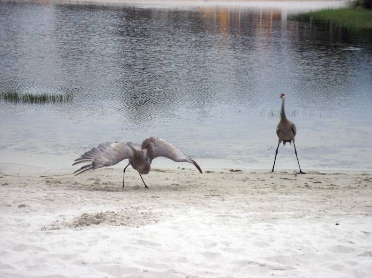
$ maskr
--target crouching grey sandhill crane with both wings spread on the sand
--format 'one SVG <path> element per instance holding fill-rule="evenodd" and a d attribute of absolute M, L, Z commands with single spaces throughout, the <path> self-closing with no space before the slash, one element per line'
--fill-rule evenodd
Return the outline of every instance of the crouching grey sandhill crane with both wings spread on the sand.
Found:
<path fill-rule="evenodd" d="M 183 154 L 181 150 L 166 140 L 153 136 L 145 139 L 142 142 L 142 145 L 131 142 L 126 144 L 118 142 L 100 144 L 98 147 L 85 152 L 81 157 L 76 159 L 72 165 L 90 162 L 74 172 L 74 174 L 79 175 L 88 170 L 98 169 L 104 166 L 112 166 L 124 159 L 129 159 L 128 165 L 126 165 L 123 170 L 123 188 L 125 169 L 129 165 L 132 165 L 132 167 L 138 171 L 143 184 L 148 188 L 141 174 L 148 174 L 150 172 L 152 160 L 159 156 L 167 157 L 176 162 L 192 163 L 200 173 L 203 173 L 200 166 L 195 162 L 195 160 L 191 159 L 191 157 Z"/>

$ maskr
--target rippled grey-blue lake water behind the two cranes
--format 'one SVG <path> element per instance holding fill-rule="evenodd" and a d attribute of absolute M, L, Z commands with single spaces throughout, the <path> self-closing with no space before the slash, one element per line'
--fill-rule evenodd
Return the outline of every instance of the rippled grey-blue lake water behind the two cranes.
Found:
<path fill-rule="evenodd" d="M 153 135 L 202 168 L 270 170 L 286 93 L 303 170 L 372 170 L 372 32 L 292 18 L 345 4 L 0 0 L 0 93 L 74 94 L 0 102 L 0 162 L 66 168 Z M 297 169 L 293 146 L 276 167 Z"/>

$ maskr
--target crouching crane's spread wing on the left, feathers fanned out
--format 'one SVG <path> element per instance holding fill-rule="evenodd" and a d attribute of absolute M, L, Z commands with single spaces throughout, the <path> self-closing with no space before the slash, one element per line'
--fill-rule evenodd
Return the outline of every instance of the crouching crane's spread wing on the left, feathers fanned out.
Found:
<path fill-rule="evenodd" d="M 72 165 L 89 162 L 89 164 L 74 172 L 74 174 L 79 175 L 88 170 L 115 165 L 126 158 L 133 159 L 133 151 L 129 146 L 118 142 L 107 142 L 87 151 L 76 159 Z"/>

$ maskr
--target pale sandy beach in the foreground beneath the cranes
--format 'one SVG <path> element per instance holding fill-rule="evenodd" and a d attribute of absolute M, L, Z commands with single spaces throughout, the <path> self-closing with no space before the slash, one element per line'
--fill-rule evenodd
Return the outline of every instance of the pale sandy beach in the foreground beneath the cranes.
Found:
<path fill-rule="evenodd" d="M 371 172 L 205 172 L 1 168 L 0 277 L 372 273 Z"/>

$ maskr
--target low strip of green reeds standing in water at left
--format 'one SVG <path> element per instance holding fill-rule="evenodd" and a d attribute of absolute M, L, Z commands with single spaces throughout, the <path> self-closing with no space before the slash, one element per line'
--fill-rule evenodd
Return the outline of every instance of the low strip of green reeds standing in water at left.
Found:
<path fill-rule="evenodd" d="M 15 91 L 0 93 L 0 101 L 12 103 L 31 103 L 31 104 L 46 104 L 46 103 L 61 103 L 71 102 L 73 94 L 49 94 L 49 93 L 20 93 Z"/>

